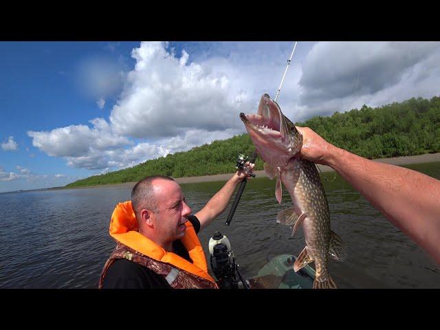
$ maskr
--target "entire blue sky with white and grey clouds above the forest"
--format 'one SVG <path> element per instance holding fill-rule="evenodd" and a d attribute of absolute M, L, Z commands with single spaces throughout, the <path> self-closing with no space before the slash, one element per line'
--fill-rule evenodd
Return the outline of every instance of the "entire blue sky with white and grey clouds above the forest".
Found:
<path fill-rule="evenodd" d="M 0 42 L 0 192 L 64 186 L 244 133 L 294 41 Z M 440 43 L 303 42 L 278 97 L 306 120 L 438 96 Z"/>

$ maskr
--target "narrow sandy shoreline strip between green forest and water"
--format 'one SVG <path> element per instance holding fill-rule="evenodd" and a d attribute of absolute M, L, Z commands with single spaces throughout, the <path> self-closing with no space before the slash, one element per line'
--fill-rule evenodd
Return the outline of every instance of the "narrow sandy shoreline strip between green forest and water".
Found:
<path fill-rule="evenodd" d="M 408 165 L 408 164 L 418 164 L 418 163 L 430 163 L 430 162 L 440 162 L 440 153 L 426 153 L 424 155 L 416 156 L 402 156 L 402 157 L 392 157 L 392 158 L 380 158 L 373 159 L 375 162 L 381 162 L 393 165 Z M 325 165 L 318 165 L 322 172 L 333 171 L 333 168 Z M 256 170 L 256 177 L 264 177 L 264 170 Z M 174 178 L 179 184 L 195 184 L 199 182 L 211 182 L 211 181 L 226 181 L 228 180 L 232 173 L 226 174 L 216 174 L 216 175 L 203 175 L 200 177 L 177 177 Z M 120 187 L 120 188 L 132 188 L 136 182 L 124 182 L 122 184 L 100 184 L 96 186 L 78 186 L 78 187 L 56 187 L 56 188 L 46 188 L 39 190 L 60 190 L 60 189 L 88 189 L 88 188 L 102 188 L 102 187 Z M 30 190 L 28 190 L 30 191 Z"/>

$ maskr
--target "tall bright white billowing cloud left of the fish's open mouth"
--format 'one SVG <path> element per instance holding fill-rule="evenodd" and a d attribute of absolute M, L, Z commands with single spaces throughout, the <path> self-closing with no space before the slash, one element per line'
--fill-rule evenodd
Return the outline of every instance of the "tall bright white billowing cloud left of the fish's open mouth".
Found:
<path fill-rule="evenodd" d="M 212 65 L 176 58 L 168 43 L 141 43 L 132 52 L 135 69 L 127 75 L 122 98 L 111 111 L 115 132 L 133 137 L 181 135 L 188 129 L 219 131 L 243 126 L 239 112 L 254 100 L 231 88 L 230 76 Z M 237 96 L 240 96 L 237 98 Z"/>

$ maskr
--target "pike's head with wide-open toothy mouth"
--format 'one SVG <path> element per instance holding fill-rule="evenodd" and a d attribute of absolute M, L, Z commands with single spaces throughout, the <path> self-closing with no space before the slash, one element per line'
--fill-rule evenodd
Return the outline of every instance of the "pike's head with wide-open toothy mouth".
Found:
<path fill-rule="evenodd" d="M 303 145 L 293 122 L 269 95 L 261 96 L 256 114 L 240 113 L 256 151 L 271 166 L 285 166 Z"/>

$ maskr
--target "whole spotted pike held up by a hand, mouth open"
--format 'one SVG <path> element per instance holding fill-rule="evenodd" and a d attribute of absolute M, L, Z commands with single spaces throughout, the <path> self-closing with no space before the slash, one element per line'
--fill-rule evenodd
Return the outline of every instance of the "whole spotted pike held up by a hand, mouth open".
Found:
<path fill-rule="evenodd" d="M 294 263 L 294 271 L 314 261 L 314 289 L 336 289 L 327 269 L 328 259 L 345 261 L 347 246 L 330 228 L 329 204 L 315 164 L 299 155 L 303 136 L 267 94 L 261 97 L 256 114 L 240 113 L 240 118 L 265 161 L 265 173 L 271 179 L 276 177 L 278 203 L 282 184 L 292 198 L 292 208 L 279 212 L 276 221 L 293 226 L 292 236 L 303 225 L 306 246 Z"/>

